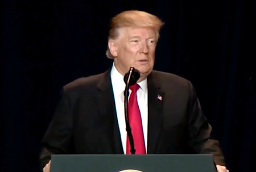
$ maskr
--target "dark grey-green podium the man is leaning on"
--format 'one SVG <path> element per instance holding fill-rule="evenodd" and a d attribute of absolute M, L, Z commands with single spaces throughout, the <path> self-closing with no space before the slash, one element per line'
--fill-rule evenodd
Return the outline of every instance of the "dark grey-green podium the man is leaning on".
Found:
<path fill-rule="evenodd" d="M 52 155 L 50 172 L 216 172 L 212 154 Z"/>

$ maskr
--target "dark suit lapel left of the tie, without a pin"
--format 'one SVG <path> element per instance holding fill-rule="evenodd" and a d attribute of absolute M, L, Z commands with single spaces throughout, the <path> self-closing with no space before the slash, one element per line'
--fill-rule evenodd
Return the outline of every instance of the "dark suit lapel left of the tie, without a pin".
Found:
<path fill-rule="evenodd" d="M 100 116 L 105 117 L 107 120 L 106 123 L 108 123 L 106 135 L 109 135 L 110 145 L 112 146 L 114 154 L 123 154 L 117 114 L 115 111 L 114 94 L 110 80 L 110 69 L 103 74 L 97 87 L 97 108 Z"/>

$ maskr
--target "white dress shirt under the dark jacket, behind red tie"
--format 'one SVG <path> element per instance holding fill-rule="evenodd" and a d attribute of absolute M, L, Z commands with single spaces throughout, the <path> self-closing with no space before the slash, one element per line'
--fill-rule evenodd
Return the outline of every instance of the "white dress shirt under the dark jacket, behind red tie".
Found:
<path fill-rule="evenodd" d="M 125 91 L 125 82 L 123 81 L 123 75 L 117 71 L 114 64 L 111 70 L 111 81 L 114 91 L 115 111 L 117 113 L 117 120 L 119 125 L 119 131 L 121 134 L 123 152 L 126 154 L 127 132 L 125 124 L 125 96 L 123 95 Z M 141 111 L 143 135 L 147 152 L 147 79 L 138 82 L 138 85 L 140 86 L 140 88 L 137 91 L 137 99 L 139 104 L 139 110 Z M 131 93 L 131 90 L 129 90 L 129 93 Z"/>

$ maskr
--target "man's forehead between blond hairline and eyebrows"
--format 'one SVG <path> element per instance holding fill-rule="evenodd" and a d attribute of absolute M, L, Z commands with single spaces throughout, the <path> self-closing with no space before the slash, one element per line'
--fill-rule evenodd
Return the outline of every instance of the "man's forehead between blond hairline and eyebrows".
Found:
<path fill-rule="evenodd" d="M 123 37 L 156 37 L 154 28 L 150 27 L 125 27 L 119 28 L 120 36 Z"/>

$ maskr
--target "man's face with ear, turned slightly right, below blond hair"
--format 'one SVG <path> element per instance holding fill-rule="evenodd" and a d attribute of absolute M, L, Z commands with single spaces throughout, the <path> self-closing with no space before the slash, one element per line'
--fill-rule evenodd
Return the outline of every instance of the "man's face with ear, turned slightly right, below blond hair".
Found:
<path fill-rule="evenodd" d="M 122 75 L 133 66 L 141 73 L 141 81 L 152 71 L 156 48 L 156 35 L 152 28 L 121 28 L 117 40 L 109 45 L 115 57 L 115 68 Z"/>

